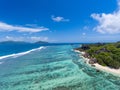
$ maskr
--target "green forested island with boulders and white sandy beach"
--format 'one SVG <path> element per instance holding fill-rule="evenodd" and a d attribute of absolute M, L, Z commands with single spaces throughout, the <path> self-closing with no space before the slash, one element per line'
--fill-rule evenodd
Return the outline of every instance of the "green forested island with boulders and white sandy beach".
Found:
<path fill-rule="evenodd" d="M 120 42 L 82 44 L 76 48 L 97 69 L 120 74 Z"/>

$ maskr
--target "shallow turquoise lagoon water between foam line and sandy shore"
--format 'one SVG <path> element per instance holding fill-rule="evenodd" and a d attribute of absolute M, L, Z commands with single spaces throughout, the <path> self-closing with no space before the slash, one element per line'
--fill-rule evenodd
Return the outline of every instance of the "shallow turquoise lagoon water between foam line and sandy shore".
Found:
<path fill-rule="evenodd" d="M 86 65 L 75 47 L 45 46 L 1 59 L 0 90 L 120 90 L 120 77 Z"/>

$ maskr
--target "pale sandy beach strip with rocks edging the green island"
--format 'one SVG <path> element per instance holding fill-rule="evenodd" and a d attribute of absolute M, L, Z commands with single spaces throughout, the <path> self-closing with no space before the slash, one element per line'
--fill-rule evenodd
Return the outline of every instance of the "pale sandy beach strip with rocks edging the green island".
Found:
<path fill-rule="evenodd" d="M 74 50 L 74 51 L 80 53 L 80 54 L 81 54 L 80 56 L 85 60 L 85 62 L 86 62 L 88 65 L 92 66 L 93 68 L 95 68 L 95 69 L 97 69 L 97 70 L 100 70 L 100 71 L 104 71 L 104 72 L 113 74 L 113 75 L 120 76 L 120 68 L 119 68 L 119 69 L 114 69 L 114 68 L 102 66 L 102 65 L 100 65 L 100 64 L 98 64 L 98 63 L 90 64 L 90 63 L 89 63 L 90 59 L 84 57 L 85 52 L 81 52 L 81 51 L 79 51 L 79 50 Z"/>

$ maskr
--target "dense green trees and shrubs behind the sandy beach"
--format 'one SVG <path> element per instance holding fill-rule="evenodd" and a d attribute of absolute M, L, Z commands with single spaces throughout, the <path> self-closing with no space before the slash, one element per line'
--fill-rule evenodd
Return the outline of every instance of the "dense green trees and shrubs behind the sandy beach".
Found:
<path fill-rule="evenodd" d="M 120 42 L 84 44 L 77 50 L 85 51 L 97 63 L 111 68 L 120 68 Z"/>

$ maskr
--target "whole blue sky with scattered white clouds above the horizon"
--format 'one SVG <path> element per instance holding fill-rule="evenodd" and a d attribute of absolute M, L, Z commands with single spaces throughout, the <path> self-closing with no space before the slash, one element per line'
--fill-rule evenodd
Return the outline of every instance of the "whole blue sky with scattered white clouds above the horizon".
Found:
<path fill-rule="evenodd" d="M 120 0 L 0 0 L 0 41 L 120 41 Z"/>

